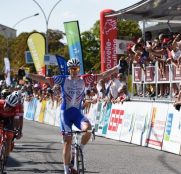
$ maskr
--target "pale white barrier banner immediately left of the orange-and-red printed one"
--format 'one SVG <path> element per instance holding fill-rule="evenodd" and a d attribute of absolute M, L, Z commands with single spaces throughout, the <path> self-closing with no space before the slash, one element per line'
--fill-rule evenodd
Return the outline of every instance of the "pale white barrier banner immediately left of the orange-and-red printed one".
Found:
<path fill-rule="evenodd" d="M 134 104 L 130 103 L 130 105 L 129 108 L 134 113 L 134 129 L 131 143 L 147 146 L 146 140 L 150 130 L 152 103 L 136 102 Z"/>

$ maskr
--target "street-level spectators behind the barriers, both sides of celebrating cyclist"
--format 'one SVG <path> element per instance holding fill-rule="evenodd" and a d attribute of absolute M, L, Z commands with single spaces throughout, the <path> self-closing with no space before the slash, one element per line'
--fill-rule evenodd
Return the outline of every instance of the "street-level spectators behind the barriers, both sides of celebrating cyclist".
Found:
<path fill-rule="evenodd" d="M 37 83 L 25 76 L 14 79 L 12 82 L 13 84 L 7 87 L 5 81 L 1 80 L 0 91 L 21 91 L 22 99 L 26 101 L 37 98 L 39 101 L 51 100 L 57 106 L 61 103 L 61 88 L 57 84 L 51 88 L 48 84 Z M 3 98 L 2 95 L 1 98 Z M 90 105 L 98 101 L 104 101 L 106 104 L 108 102 L 123 103 L 126 100 L 129 100 L 126 75 L 119 73 L 112 75 L 109 79 L 101 79 L 86 86 L 82 107 L 88 111 Z"/>

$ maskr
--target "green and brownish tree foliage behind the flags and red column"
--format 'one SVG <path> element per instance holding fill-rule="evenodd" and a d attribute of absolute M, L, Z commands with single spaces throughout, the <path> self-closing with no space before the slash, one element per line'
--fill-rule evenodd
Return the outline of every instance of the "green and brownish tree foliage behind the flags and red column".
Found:
<path fill-rule="evenodd" d="M 118 38 L 129 39 L 141 35 L 137 22 L 118 20 Z M 33 31 L 36 32 L 36 31 Z M 31 33 L 21 33 L 15 39 L 6 39 L 0 35 L 0 68 L 3 69 L 4 57 L 11 61 L 11 69 L 17 70 L 25 64 L 25 51 L 28 50 L 27 38 Z M 45 34 L 42 33 L 44 36 Z M 68 46 L 61 42 L 64 33 L 59 30 L 48 30 L 49 54 L 59 54 L 69 59 Z M 84 69 L 88 72 L 91 68 L 100 70 L 100 21 L 96 21 L 89 31 L 81 33 Z M 26 65 L 30 66 L 30 65 Z"/>

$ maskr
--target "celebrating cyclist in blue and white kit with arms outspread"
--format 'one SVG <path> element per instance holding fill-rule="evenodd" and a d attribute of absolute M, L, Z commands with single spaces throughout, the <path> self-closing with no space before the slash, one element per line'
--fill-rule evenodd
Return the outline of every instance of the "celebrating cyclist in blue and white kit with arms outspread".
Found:
<path fill-rule="evenodd" d="M 48 83 L 51 86 L 59 84 L 61 86 L 62 103 L 60 106 L 60 131 L 63 134 L 63 163 L 64 173 L 70 174 L 69 165 L 71 158 L 72 124 L 77 128 L 87 131 L 91 130 L 89 120 L 81 113 L 81 103 L 84 98 L 85 87 L 94 81 L 106 78 L 111 74 L 118 73 L 119 65 L 109 69 L 101 74 L 80 75 L 80 62 L 72 58 L 67 62 L 70 75 L 57 75 L 53 77 L 44 77 L 37 74 L 27 74 L 32 80 Z M 81 139 L 81 148 L 87 144 L 91 137 L 90 132 L 86 132 Z"/>

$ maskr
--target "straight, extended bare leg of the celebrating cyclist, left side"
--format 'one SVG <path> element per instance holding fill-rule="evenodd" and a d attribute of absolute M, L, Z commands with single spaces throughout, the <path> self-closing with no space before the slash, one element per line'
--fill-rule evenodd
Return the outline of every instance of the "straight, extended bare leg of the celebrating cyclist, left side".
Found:
<path fill-rule="evenodd" d="M 63 136 L 64 145 L 63 145 L 63 163 L 64 165 L 70 164 L 71 158 L 71 144 L 72 144 L 72 136 Z"/>

